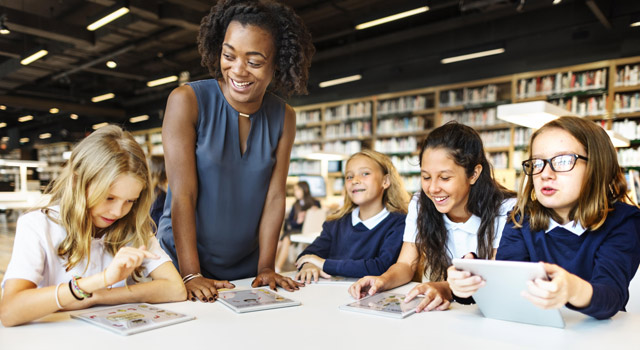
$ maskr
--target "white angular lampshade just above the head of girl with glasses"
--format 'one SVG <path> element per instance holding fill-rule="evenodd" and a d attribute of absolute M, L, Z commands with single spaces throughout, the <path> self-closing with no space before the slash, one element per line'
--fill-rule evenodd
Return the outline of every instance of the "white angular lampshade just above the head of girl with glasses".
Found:
<path fill-rule="evenodd" d="M 562 116 L 578 117 L 578 115 L 547 101 L 510 103 L 498 106 L 498 119 L 533 129 L 539 129 L 544 124 Z"/>

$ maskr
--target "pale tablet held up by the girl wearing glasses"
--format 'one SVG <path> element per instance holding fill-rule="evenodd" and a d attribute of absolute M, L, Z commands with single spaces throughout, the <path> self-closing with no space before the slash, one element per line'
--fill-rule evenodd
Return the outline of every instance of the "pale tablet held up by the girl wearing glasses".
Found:
<path fill-rule="evenodd" d="M 453 259 L 453 265 L 486 281 L 486 285 L 473 295 L 485 317 L 564 328 L 560 310 L 541 309 L 520 295 L 527 289 L 527 281 L 547 279 L 540 263 Z"/>

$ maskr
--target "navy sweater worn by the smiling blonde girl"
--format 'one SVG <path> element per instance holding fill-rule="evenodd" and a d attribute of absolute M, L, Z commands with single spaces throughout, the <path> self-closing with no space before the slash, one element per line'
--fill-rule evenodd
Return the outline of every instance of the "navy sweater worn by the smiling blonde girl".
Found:
<path fill-rule="evenodd" d="M 324 272 L 345 277 L 381 275 L 398 259 L 406 215 L 389 213 L 369 230 L 362 222 L 353 226 L 351 214 L 326 221 L 322 233 L 300 255 L 323 259 Z"/>

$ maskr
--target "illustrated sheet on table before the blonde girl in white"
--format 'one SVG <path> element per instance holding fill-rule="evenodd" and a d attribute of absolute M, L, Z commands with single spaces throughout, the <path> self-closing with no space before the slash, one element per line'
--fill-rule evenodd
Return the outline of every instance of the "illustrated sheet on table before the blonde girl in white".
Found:
<path fill-rule="evenodd" d="M 121 335 L 140 333 L 195 318 L 144 303 L 124 304 L 99 310 L 84 310 L 71 314 L 71 317 Z"/>

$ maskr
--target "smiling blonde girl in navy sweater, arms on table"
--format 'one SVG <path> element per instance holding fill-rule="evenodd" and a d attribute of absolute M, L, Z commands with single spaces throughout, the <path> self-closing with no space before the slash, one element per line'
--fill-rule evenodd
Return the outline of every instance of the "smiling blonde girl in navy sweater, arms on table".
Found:
<path fill-rule="evenodd" d="M 400 253 L 409 195 L 389 157 L 372 150 L 352 155 L 344 205 L 298 257 L 296 279 L 380 274 Z"/>

